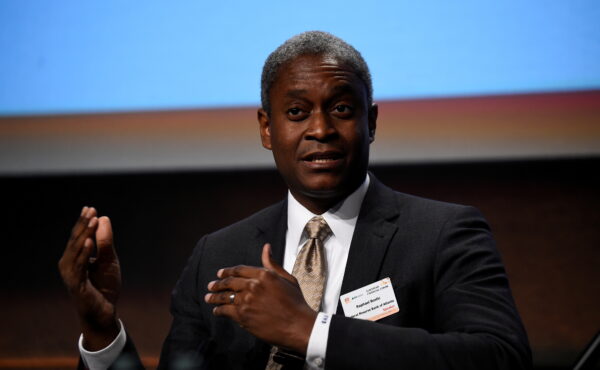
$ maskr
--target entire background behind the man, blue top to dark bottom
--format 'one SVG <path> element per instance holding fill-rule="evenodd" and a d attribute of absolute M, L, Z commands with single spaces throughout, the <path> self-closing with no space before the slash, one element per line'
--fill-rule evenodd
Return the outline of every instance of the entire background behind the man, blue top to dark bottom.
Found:
<path fill-rule="evenodd" d="M 285 195 L 260 73 L 311 29 L 369 63 L 374 173 L 480 208 L 536 369 L 569 368 L 600 325 L 598 19 L 595 0 L 0 1 L 0 368 L 76 363 L 56 263 L 83 205 L 113 219 L 120 314 L 157 363 L 195 241 Z"/>

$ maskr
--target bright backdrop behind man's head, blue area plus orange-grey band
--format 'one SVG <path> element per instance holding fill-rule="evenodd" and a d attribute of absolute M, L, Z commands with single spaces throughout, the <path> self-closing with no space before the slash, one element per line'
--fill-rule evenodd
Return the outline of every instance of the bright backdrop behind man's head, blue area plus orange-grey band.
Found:
<path fill-rule="evenodd" d="M 0 174 L 271 166 L 262 63 L 296 33 L 370 65 L 374 163 L 600 154 L 600 3 L 0 3 Z"/>

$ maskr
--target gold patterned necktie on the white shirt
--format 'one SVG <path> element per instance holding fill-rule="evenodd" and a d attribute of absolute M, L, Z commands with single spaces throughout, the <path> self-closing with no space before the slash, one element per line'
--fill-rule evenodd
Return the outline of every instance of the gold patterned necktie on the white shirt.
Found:
<path fill-rule="evenodd" d="M 302 246 L 300 253 L 296 256 L 296 262 L 292 275 L 298 280 L 304 300 L 315 311 L 321 308 L 323 290 L 327 280 L 327 259 L 325 258 L 325 240 L 331 235 L 331 229 L 322 216 L 315 216 L 307 223 L 304 231 L 308 240 Z M 277 353 L 278 348 L 271 348 L 271 355 L 266 370 L 279 370 L 281 365 L 273 360 L 273 356 L 296 358 L 297 356 L 287 353 Z M 277 353 L 277 354 L 276 354 Z M 299 359 L 302 360 L 302 359 Z"/>

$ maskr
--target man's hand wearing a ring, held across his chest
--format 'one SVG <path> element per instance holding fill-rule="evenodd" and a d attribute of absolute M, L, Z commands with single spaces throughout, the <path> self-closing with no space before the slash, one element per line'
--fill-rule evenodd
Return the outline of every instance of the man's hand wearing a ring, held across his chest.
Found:
<path fill-rule="evenodd" d="M 263 247 L 262 264 L 219 270 L 205 301 L 217 305 L 215 315 L 229 317 L 256 337 L 305 354 L 317 313 L 296 278 L 271 259 L 269 244 Z"/>

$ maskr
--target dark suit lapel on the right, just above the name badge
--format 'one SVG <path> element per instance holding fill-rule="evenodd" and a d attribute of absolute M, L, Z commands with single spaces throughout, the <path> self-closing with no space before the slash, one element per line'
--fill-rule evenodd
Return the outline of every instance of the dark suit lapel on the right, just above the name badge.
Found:
<path fill-rule="evenodd" d="M 350 253 L 340 295 L 373 283 L 379 277 L 390 241 L 398 226 L 390 222 L 398 217 L 393 191 L 382 185 L 373 174 L 352 236 Z M 343 313 L 338 302 L 337 313 Z"/>

